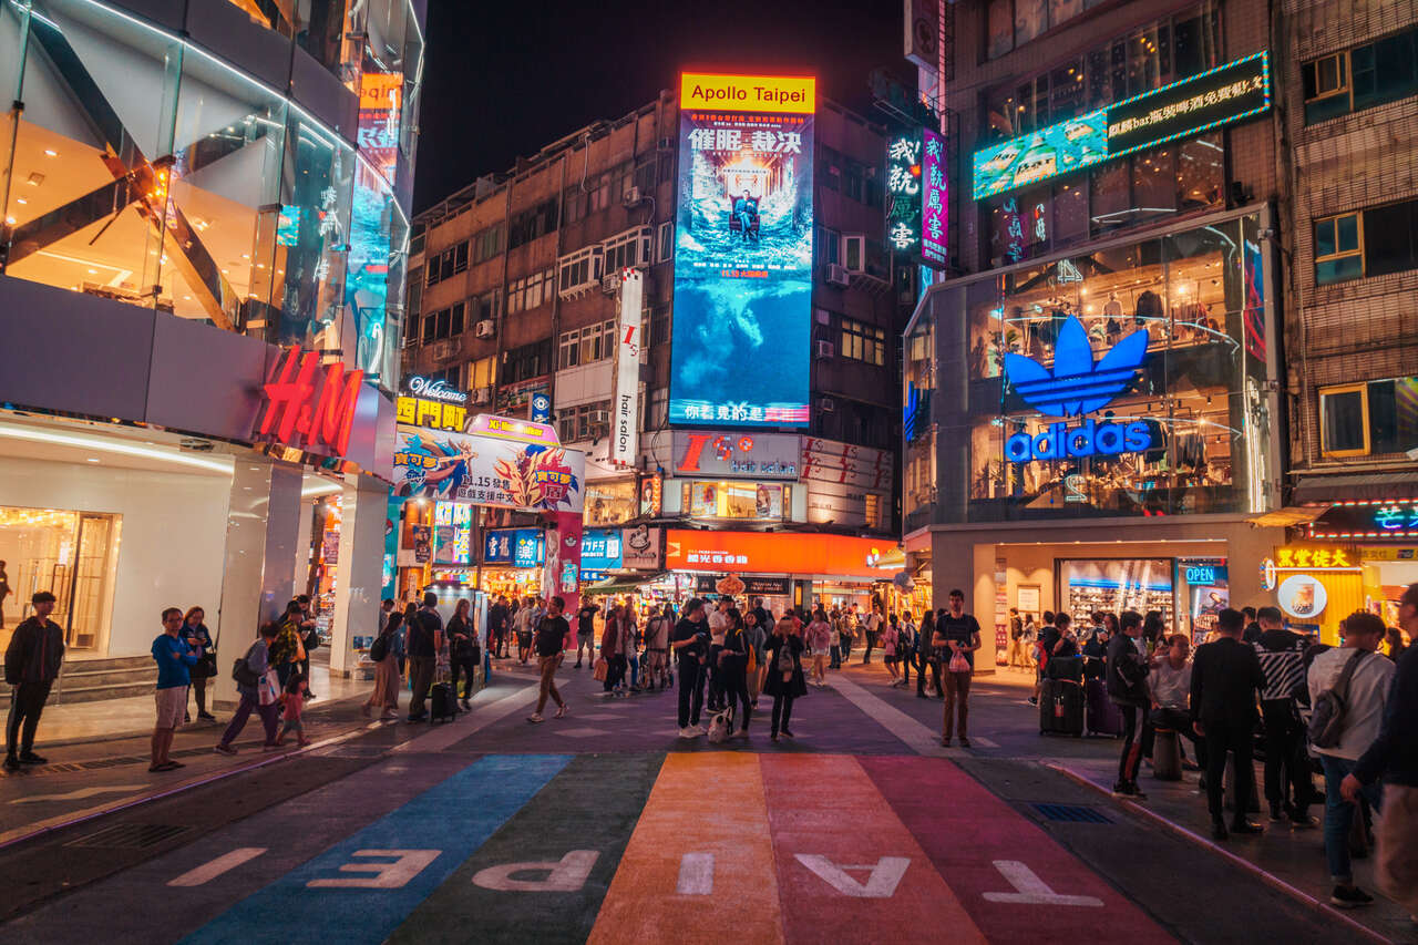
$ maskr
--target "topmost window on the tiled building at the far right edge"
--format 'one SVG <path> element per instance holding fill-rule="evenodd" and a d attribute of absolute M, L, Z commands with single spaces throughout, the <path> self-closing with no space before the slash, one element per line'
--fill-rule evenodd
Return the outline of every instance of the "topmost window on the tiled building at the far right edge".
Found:
<path fill-rule="evenodd" d="M 1300 67 L 1305 123 L 1418 95 L 1418 30 L 1405 30 Z"/>

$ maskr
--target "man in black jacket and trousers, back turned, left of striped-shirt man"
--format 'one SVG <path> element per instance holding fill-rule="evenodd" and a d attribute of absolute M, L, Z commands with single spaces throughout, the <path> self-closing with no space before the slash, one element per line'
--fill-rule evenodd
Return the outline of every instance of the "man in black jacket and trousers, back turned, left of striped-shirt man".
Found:
<path fill-rule="evenodd" d="M 1217 640 L 1197 647 L 1191 664 L 1191 725 L 1207 739 L 1207 806 L 1211 810 L 1211 836 L 1228 836 L 1221 790 L 1227 772 L 1227 752 L 1235 755 L 1235 816 L 1231 833 L 1261 833 L 1248 823 L 1246 807 L 1255 795 L 1255 762 L 1251 736 L 1255 732 L 1255 697 L 1265 688 L 1265 673 L 1255 650 L 1241 643 L 1245 614 L 1227 607 L 1217 614 Z"/>

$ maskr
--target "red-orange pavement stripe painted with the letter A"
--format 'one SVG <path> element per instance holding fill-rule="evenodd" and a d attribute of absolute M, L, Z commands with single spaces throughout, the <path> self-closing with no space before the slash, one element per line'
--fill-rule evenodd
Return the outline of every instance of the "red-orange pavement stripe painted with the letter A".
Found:
<path fill-rule="evenodd" d="M 855 758 L 761 765 L 788 942 L 986 941 Z"/>

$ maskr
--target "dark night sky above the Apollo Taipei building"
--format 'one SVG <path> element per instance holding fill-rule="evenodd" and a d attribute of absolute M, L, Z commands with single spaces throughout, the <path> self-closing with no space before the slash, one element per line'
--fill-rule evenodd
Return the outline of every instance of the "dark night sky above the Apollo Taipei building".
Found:
<path fill-rule="evenodd" d="M 817 75 L 869 112 L 902 58 L 900 0 L 430 0 L 414 209 L 674 88 L 682 70 Z"/>

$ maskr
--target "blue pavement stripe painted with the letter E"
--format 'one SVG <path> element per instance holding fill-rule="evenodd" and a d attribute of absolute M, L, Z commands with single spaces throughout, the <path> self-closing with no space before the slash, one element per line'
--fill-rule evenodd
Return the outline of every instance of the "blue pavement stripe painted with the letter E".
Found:
<path fill-rule="evenodd" d="M 570 755 L 488 755 L 237 902 L 183 942 L 383 942 L 570 761 Z M 357 857 L 359 850 L 397 853 Z M 389 864 L 400 854 L 414 864 L 432 861 L 390 888 L 308 885 L 377 878 L 373 870 L 340 867 Z M 167 900 L 179 907 L 182 895 Z"/>

